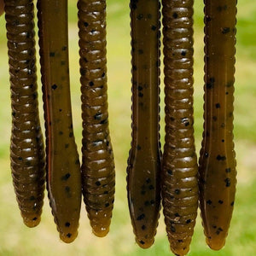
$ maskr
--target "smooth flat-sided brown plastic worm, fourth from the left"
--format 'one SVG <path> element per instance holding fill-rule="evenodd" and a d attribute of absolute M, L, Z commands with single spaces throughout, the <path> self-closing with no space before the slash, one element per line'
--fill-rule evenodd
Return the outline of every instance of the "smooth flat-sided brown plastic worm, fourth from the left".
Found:
<path fill-rule="evenodd" d="M 132 142 L 127 167 L 137 244 L 154 243 L 160 216 L 160 3 L 131 0 Z"/>

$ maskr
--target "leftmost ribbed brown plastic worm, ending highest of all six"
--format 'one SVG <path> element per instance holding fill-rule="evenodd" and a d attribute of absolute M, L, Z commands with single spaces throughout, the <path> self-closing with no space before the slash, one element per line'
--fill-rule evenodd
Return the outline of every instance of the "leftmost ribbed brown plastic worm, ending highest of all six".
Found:
<path fill-rule="evenodd" d="M 44 143 L 38 117 L 34 5 L 6 0 L 11 84 L 11 169 L 21 216 L 28 227 L 39 224 L 44 204 Z"/>

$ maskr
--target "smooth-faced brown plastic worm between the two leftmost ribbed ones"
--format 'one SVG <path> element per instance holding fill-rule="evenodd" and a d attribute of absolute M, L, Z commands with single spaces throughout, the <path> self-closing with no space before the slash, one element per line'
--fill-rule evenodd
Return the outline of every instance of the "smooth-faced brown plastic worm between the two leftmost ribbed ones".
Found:
<path fill-rule="evenodd" d="M 70 102 L 67 0 L 39 0 L 38 27 L 49 201 L 61 240 L 71 242 L 78 235 L 81 174 Z"/>

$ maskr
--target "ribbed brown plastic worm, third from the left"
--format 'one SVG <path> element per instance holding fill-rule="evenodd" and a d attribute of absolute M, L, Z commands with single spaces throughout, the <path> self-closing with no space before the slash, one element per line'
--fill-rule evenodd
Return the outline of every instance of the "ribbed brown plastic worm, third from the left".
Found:
<path fill-rule="evenodd" d="M 90 225 L 106 236 L 114 200 L 113 150 L 108 131 L 106 1 L 79 0 L 83 118 L 82 187 Z"/>

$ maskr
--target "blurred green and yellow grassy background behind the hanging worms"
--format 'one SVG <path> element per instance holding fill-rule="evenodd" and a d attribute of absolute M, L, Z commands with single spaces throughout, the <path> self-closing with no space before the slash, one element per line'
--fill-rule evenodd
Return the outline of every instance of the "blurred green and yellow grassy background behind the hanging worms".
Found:
<path fill-rule="evenodd" d="M 76 1 L 69 1 L 69 50 L 73 126 L 81 148 L 79 47 Z M 0 255 L 172 255 L 163 216 L 154 246 L 143 250 L 134 240 L 126 200 L 126 161 L 131 143 L 131 54 L 129 1 L 107 1 L 108 8 L 108 103 L 116 164 L 116 195 L 111 230 L 97 238 L 91 232 L 82 207 L 79 236 L 72 244 L 60 241 L 47 196 L 41 224 L 29 229 L 15 201 L 9 162 L 11 128 L 9 67 L 4 16 L 0 18 Z M 235 210 L 226 246 L 211 251 L 197 220 L 189 255 L 254 255 L 256 252 L 256 3 L 239 0 L 237 13 L 235 143 L 238 183 Z M 199 152 L 203 112 L 203 1 L 195 1 L 195 142 Z M 39 70 L 39 68 L 38 68 Z M 161 78 L 162 81 L 162 78 Z M 42 113 L 40 75 L 38 89 Z M 163 91 L 163 83 L 161 83 Z M 164 139 L 164 106 L 161 94 L 161 142 Z"/>

